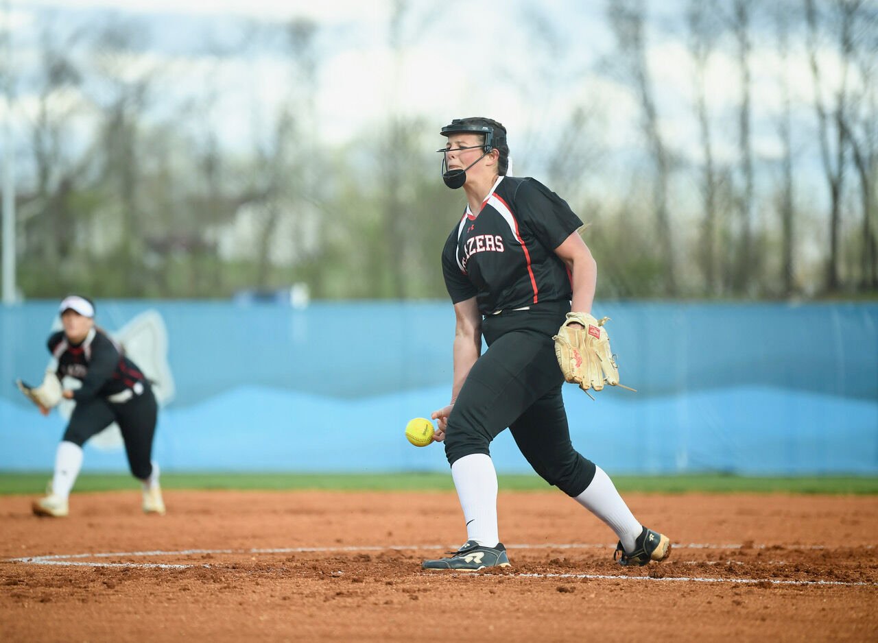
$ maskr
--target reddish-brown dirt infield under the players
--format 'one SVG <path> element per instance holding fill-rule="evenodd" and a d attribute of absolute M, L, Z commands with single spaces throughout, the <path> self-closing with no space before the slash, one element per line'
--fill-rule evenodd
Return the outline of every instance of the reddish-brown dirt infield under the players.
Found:
<path fill-rule="evenodd" d="M 500 492 L 509 571 L 426 572 L 457 547 L 450 493 L 78 494 L 70 518 L 0 497 L 3 641 L 878 639 L 878 498 L 635 495 L 671 559 L 612 561 L 556 493 Z"/>

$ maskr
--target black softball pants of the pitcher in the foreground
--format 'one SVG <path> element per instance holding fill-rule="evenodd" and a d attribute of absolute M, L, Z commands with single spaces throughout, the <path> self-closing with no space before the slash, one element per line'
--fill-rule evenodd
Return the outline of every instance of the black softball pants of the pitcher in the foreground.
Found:
<path fill-rule="evenodd" d="M 537 304 L 528 311 L 488 315 L 488 349 L 473 365 L 448 418 L 449 464 L 471 454 L 490 455 L 507 427 L 522 455 L 543 480 L 579 496 L 594 478 L 594 462 L 573 449 L 552 336 L 570 304 Z"/>

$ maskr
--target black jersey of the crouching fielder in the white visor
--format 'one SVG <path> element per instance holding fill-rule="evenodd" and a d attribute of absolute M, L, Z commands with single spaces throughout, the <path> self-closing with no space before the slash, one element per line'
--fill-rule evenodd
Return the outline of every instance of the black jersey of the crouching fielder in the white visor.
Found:
<path fill-rule="evenodd" d="M 68 375 L 83 382 L 83 386 L 73 392 L 77 402 L 90 397 L 109 397 L 125 389 L 140 394 L 148 383 L 121 347 L 96 328 L 78 345 L 70 343 L 63 331 L 55 332 L 48 339 L 48 348 L 58 361 L 59 379 Z"/>

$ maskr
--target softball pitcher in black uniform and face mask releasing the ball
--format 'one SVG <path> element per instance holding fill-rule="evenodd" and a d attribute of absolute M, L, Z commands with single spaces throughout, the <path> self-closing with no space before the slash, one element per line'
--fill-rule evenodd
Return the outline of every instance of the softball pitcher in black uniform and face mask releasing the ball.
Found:
<path fill-rule="evenodd" d="M 566 202 L 533 178 L 507 175 L 503 125 L 455 119 L 443 180 L 467 205 L 445 243 L 454 304 L 451 403 L 432 418 L 444 440 L 467 540 L 425 569 L 506 567 L 497 525 L 491 441 L 507 427 L 536 473 L 601 518 L 617 535 L 622 565 L 663 561 L 670 540 L 641 525 L 608 475 L 572 447 L 561 385 L 586 392 L 618 384 L 602 323 L 591 316 L 597 267 Z M 482 337 L 488 349 L 481 354 Z"/>

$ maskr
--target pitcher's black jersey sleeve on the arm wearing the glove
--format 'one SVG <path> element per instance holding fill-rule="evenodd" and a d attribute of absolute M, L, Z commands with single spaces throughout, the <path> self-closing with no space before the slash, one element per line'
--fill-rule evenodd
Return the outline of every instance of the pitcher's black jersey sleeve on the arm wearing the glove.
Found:
<path fill-rule="evenodd" d="M 536 239 L 551 250 L 582 225 L 567 202 L 536 179 L 522 182 L 515 192 L 514 207 Z"/>

